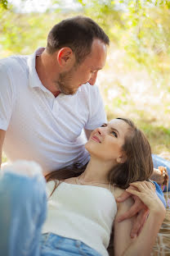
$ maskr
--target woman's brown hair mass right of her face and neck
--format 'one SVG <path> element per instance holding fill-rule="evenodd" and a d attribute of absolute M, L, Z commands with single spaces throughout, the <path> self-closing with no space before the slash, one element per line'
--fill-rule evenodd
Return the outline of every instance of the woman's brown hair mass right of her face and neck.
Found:
<path fill-rule="evenodd" d="M 109 174 L 111 184 L 126 189 L 134 181 L 147 181 L 154 169 L 151 149 L 148 139 L 143 132 L 136 128 L 134 123 L 126 118 L 117 118 L 129 125 L 129 132 L 125 135 L 123 152 L 127 160 L 115 166 Z"/>

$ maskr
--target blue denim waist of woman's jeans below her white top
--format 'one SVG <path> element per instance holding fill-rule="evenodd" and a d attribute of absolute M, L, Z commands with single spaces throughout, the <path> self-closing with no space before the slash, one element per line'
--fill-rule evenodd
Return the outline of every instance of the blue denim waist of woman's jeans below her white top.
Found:
<path fill-rule="evenodd" d="M 47 233 L 42 235 L 41 256 L 101 256 L 80 240 Z"/>

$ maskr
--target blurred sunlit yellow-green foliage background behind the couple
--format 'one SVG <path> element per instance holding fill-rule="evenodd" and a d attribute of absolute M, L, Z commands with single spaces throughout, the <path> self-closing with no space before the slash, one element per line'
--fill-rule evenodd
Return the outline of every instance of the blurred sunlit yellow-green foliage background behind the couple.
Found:
<path fill-rule="evenodd" d="M 169 1 L 0 0 L 0 56 L 45 47 L 51 27 L 76 15 L 92 17 L 110 36 L 97 80 L 108 119 L 132 118 L 153 153 L 170 154 Z"/>

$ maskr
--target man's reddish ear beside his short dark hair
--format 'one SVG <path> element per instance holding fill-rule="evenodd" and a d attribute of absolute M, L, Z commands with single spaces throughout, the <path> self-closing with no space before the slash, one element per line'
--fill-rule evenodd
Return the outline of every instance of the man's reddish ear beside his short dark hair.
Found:
<path fill-rule="evenodd" d="M 71 48 L 64 47 L 60 48 L 57 53 L 57 62 L 60 67 L 68 67 L 73 66 L 75 61 L 74 53 Z"/>

